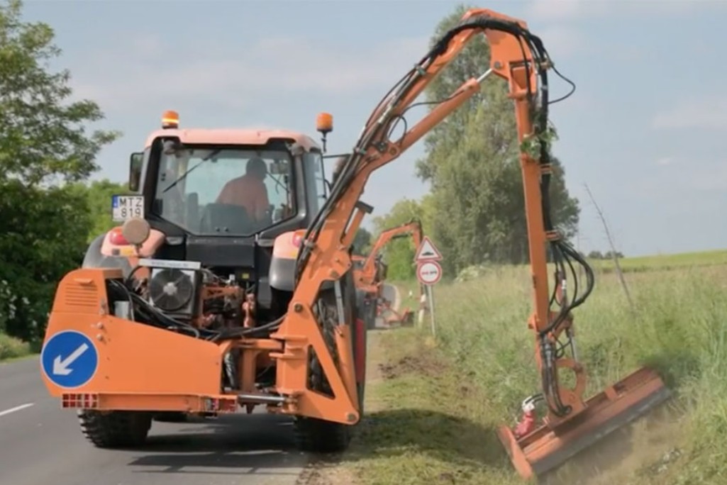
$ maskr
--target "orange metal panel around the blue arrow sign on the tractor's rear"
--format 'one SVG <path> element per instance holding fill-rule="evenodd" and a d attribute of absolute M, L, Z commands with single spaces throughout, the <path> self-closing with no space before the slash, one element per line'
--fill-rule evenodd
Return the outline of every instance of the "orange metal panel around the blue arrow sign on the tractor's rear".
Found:
<path fill-rule="evenodd" d="M 97 369 L 80 386 L 58 385 L 42 372 L 64 407 L 201 412 L 209 410 L 206 399 L 236 401 L 220 393 L 225 348 L 212 342 L 111 315 L 54 312 L 47 340 L 60 332 L 85 335 L 98 356 Z"/>

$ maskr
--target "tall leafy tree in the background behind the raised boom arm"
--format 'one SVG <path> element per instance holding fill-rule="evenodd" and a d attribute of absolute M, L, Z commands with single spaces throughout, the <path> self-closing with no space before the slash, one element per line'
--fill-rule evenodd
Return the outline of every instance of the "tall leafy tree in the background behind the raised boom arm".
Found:
<path fill-rule="evenodd" d="M 445 17 L 432 43 L 468 8 L 459 5 Z M 489 55 L 483 36 L 470 41 L 427 87 L 427 101 L 446 99 L 466 79 L 485 71 Z M 446 271 L 487 261 L 522 263 L 529 257 L 513 101 L 507 83 L 496 76 L 481 91 L 481 97 L 470 98 L 425 137 L 425 156 L 417 161 L 417 175 L 432 188 L 430 235 L 442 248 Z M 578 201 L 569 196 L 563 166 L 555 157 L 550 199 L 553 220 L 571 236 Z"/>

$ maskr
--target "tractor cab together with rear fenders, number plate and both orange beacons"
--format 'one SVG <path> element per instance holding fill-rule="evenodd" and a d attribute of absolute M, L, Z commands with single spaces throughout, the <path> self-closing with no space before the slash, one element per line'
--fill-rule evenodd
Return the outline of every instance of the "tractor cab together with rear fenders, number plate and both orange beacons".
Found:
<path fill-rule="evenodd" d="M 332 131 L 328 113 L 318 116 L 318 131 L 324 140 Z M 92 242 L 83 266 L 128 276 L 140 261 L 198 265 L 254 292 L 260 310 L 283 310 L 285 298 L 273 293 L 292 292 L 297 244 L 329 190 L 323 153 L 300 132 L 182 128 L 178 113 L 166 111 L 130 157 L 130 193 L 112 198 L 119 227 Z M 122 225 L 141 239 L 127 238 Z M 169 294 L 162 300 L 174 300 L 168 310 L 184 308 Z M 190 318 L 193 311 L 185 310 Z"/>

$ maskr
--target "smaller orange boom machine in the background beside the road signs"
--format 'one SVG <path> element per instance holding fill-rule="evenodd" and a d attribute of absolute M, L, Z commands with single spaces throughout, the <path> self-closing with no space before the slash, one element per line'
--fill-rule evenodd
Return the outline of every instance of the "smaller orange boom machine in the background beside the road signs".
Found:
<path fill-rule="evenodd" d="M 356 288 L 366 294 L 369 302 L 375 302 L 376 317 L 382 318 L 386 326 L 393 324 L 411 324 L 414 320 L 414 311 L 410 308 L 398 310 L 393 308 L 392 302 L 384 295 L 384 282 L 387 276 L 387 265 L 382 260 L 381 250 L 394 239 L 400 239 L 411 235 L 414 241 L 414 249 L 422 244 L 422 223 L 411 220 L 408 223 L 388 228 L 379 234 L 379 238 L 371 247 L 366 258 L 354 257 L 353 278 L 356 281 Z M 357 262 L 358 260 L 358 262 Z M 424 288 L 419 285 L 420 297 L 424 294 Z M 371 320 L 369 320 L 370 322 Z M 375 318 L 374 318 L 375 324 Z M 372 328 L 369 326 L 369 328 Z"/>

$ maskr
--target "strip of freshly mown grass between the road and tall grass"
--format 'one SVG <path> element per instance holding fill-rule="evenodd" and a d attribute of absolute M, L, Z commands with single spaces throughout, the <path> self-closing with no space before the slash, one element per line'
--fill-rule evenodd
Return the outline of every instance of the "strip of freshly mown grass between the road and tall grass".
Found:
<path fill-rule="evenodd" d="M 308 483 L 513 481 L 494 430 L 478 418 L 483 396 L 417 329 L 369 332 L 367 372 L 365 417 L 349 451 L 327 470 L 319 463 Z"/>

